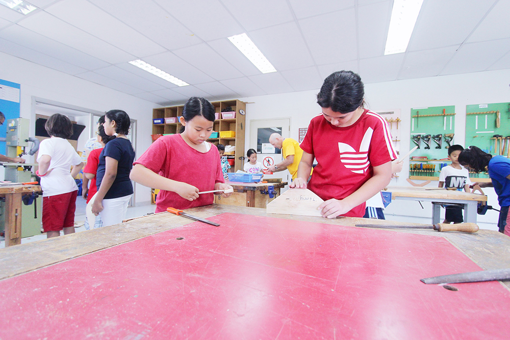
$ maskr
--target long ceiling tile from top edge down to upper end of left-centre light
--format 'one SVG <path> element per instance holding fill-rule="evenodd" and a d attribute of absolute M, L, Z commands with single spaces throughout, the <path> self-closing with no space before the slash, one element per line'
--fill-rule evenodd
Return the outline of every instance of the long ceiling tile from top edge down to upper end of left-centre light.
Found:
<path fill-rule="evenodd" d="M 85 0 L 61 1 L 46 12 L 139 58 L 166 50 Z"/>

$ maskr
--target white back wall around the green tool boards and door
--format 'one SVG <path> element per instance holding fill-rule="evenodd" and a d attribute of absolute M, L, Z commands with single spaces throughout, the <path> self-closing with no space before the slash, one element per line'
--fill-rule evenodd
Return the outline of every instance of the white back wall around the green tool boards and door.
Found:
<path fill-rule="evenodd" d="M 410 149 L 410 113 L 412 108 L 455 106 L 454 142 L 464 145 L 466 105 L 497 103 L 510 101 L 510 70 L 477 72 L 460 75 L 430 77 L 424 79 L 403 80 L 365 85 L 365 97 L 368 107 L 377 110 L 401 110 L 401 150 Z M 303 91 L 287 94 L 265 95 L 242 98 L 246 106 L 246 150 L 249 145 L 250 120 L 291 117 L 291 138 L 298 140 L 298 129 L 308 127 L 310 119 L 321 112 L 316 103 L 319 91 Z M 503 119 L 503 118 L 502 118 Z M 503 124 L 506 122 L 503 122 Z M 418 153 L 415 153 L 417 155 Z M 447 154 L 445 154 L 445 157 Z M 405 178 L 409 176 L 409 165 L 404 163 L 400 177 L 393 179 L 390 185 L 409 186 Z M 433 181 L 429 187 L 437 187 Z M 489 195 L 489 204 L 499 208 L 497 196 L 492 188 L 484 190 Z M 431 204 L 395 201 L 385 211 L 387 219 L 430 223 Z M 405 212 L 405 213 L 402 213 Z M 444 214 L 444 211 L 443 211 Z M 497 230 L 498 213 L 489 211 L 478 215 L 480 227 Z"/>

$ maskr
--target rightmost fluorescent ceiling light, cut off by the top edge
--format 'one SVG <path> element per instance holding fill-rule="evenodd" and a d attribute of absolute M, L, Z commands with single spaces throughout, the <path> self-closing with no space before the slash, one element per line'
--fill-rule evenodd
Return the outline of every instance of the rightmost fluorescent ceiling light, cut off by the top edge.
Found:
<path fill-rule="evenodd" d="M 405 52 L 418 19 L 423 0 L 395 0 L 384 54 Z"/>

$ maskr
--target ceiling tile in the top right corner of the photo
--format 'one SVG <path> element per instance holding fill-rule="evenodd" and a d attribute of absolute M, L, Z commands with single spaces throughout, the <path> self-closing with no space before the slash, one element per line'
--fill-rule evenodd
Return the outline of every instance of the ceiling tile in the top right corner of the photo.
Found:
<path fill-rule="evenodd" d="M 478 25 L 467 42 L 510 38 L 510 2 L 499 1 Z"/>

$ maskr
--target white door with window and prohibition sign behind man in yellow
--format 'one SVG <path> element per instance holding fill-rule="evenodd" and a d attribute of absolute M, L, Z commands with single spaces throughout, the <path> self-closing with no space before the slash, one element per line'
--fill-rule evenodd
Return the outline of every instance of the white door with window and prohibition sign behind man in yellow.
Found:
<path fill-rule="evenodd" d="M 257 162 L 262 163 L 263 169 L 282 162 L 282 150 L 275 149 L 269 144 L 269 136 L 273 133 L 290 137 L 290 118 L 250 120 L 250 144 L 248 149 L 257 151 Z M 245 160 L 246 162 L 247 160 Z M 292 179 L 288 170 L 264 174 L 264 178 L 282 178 L 289 182 Z"/>

